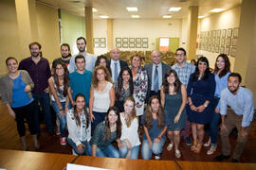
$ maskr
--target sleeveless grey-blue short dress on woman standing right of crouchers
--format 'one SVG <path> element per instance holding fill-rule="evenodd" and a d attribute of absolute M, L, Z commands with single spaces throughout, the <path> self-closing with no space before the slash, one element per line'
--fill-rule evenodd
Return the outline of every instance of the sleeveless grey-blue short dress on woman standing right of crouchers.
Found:
<path fill-rule="evenodd" d="M 182 130 L 186 125 L 186 108 L 182 110 L 179 120 L 174 124 L 174 118 L 182 105 L 182 94 L 181 90 L 175 94 L 165 93 L 165 106 L 164 106 L 164 116 L 165 125 L 167 125 L 168 131 Z"/>

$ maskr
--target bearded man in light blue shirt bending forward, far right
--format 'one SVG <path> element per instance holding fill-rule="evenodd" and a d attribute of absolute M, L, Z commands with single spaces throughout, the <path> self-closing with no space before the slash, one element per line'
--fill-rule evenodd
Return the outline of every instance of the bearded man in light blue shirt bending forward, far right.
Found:
<path fill-rule="evenodd" d="M 237 73 L 231 73 L 228 78 L 228 88 L 221 92 L 221 147 L 222 154 L 216 157 L 216 161 L 223 161 L 230 157 L 229 133 L 234 127 L 238 130 L 237 144 L 235 145 L 232 160 L 238 162 L 247 144 L 250 131 L 250 122 L 253 119 L 254 102 L 253 94 L 241 87 L 242 77 Z M 227 111 L 228 106 L 230 110 Z"/>

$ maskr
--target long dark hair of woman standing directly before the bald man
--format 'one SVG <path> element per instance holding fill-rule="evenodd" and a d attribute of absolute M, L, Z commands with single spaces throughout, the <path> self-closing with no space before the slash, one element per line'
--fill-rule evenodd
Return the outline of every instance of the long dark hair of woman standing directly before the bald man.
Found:
<path fill-rule="evenodd" d="M 118 91 L 117 91 L 117 100 L 119 101 L 120 98 L 120 93 L 121 93 L 121 89 L 123 87 L 123 79 L 122 79 L 122 73 L 124 71 L 127 71 L 130 75 L 129 78 L 129 90 L 130 90 L 130 94 L 132 95 L 134 93 L 134 82 L 133 82 L 133 74 L 132 71 L 129 67 L 125 66 L 122 67 L 119 73 L 119 77 L 118 77 Z"/>

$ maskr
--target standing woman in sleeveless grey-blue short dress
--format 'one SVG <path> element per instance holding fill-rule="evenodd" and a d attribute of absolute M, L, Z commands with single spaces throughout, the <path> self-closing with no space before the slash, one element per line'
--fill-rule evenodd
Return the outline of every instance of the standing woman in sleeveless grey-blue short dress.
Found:
<path fill-rule="evenodd" d="M 186 125 L 187 91 L 174 70 L 169 70 L 164 76 L 164 82 L 161 87 L 161 103 L 164 107 L 165 122 L 167 125 L 167 135 L 170 144 L 167 150 L 175 149 L 175 157 L 180 158 L 178 149 L 180 142 L 180 131 Z"/>

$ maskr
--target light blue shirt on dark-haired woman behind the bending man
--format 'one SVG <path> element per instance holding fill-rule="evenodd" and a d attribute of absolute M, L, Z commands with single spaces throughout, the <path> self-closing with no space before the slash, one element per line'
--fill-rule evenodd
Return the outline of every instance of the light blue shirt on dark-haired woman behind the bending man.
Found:
<path fill-rule="evenodd" d="M 214 96 L 220 98 L 220 93 L 228 87 L 228 77 L 230 75 L 230 72 L 228 72 L 225 76 L 218 76 L 217 74 L 215 75 L 215 81 L 216 81 L 216 88 L 215 88 L 215 93 Z M 217 108 L 220 108 L 220 102 L 217 105 Z"/>

